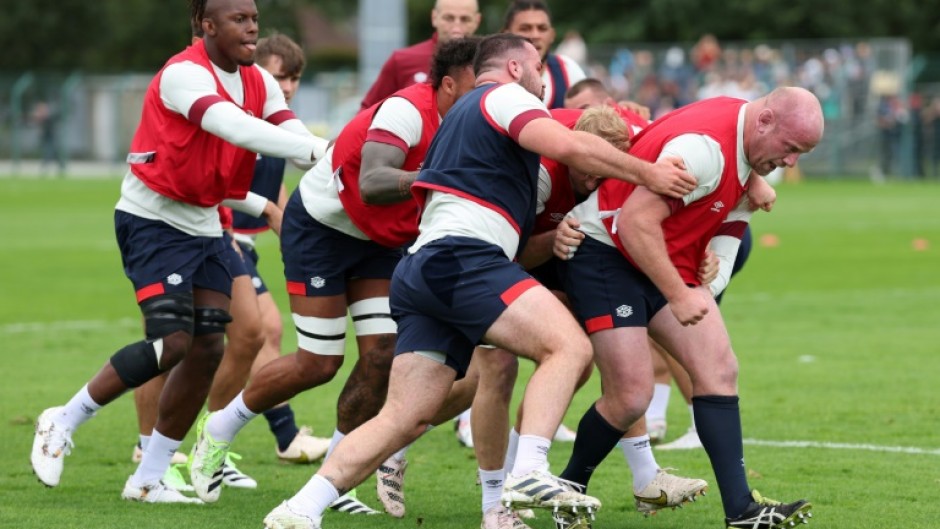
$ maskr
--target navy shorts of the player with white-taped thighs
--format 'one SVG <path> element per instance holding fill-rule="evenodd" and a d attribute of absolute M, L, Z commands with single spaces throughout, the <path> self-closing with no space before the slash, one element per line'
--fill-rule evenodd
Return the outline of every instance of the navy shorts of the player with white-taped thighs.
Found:
<path fill-rule="evenodd" d="M 346 293 L 353 279 L 391 279 L 401 248 L 350 237 L 316 221 L 294 192 L 281 221 L 287 291 L 299 296 Z"/>

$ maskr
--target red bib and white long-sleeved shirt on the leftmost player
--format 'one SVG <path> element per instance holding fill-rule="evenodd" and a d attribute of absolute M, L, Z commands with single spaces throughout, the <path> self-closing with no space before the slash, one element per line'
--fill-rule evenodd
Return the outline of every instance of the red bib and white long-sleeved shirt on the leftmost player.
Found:
<path fill-rule="evenodd" d="M 288 109 L 271 74 L 257 65 L 226 72 L 200 40 L 151 81 L 116 208 L 220 236 L 216 206 L 245 197 L 256 152 L 310 160 L 325 144 Z"/>

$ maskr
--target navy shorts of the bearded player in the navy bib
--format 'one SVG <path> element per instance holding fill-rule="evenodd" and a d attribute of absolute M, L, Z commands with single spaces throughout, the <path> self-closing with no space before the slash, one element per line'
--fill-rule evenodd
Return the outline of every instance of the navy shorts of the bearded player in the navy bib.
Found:
<path fill-rule="evenodd" d="M 445 237 L 395 268 L 389 304 L 395 354 L 434 351 L 463 377 L 473 348 L 513 301 L 539 283 L 492 244 Z"/>

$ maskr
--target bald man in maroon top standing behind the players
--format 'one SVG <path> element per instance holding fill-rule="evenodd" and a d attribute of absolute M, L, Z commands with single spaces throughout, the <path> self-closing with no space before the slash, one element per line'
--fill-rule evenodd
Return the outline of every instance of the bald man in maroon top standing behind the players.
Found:
<path fill-rule="evenodd" d="M 402 88 L 427 82 L 438 45 L 473 35 L 480 26 L 477 0 L 437 0 L 431 9 L 431 26 L 434 35 L 430 39 L 392 52 L 362 98 L 361 108 L 369 108 Z"/>

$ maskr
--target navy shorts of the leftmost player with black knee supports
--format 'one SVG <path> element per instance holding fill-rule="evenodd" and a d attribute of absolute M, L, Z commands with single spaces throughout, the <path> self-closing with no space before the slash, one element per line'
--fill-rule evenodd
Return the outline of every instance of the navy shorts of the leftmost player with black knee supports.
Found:
<path fill-rule="evenodd" d="M 161 294 L 206 289 L 232 295 L 222 237 L 194 237 L 169 224 L 114 212 L 124 273 L 137 302 Z"/>

